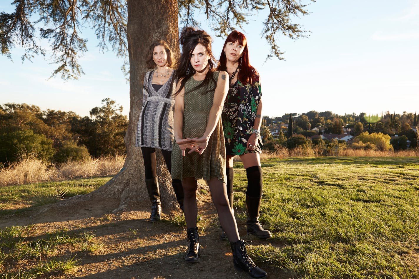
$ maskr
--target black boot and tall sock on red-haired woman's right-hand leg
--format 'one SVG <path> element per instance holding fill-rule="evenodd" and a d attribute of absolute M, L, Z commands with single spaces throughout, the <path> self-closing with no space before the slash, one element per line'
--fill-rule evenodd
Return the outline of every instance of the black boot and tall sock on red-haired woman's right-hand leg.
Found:
<path fill-rule="evenodd" d="M 259 209 L 262 199 L 262 169 L 260 166 L 246 168 L 246 174 L 246 232 L 255 235 L 258 238 L 270 238 L 272 236 L 271 232 L 269 230 L 264 230 L 259 222 Z"/>

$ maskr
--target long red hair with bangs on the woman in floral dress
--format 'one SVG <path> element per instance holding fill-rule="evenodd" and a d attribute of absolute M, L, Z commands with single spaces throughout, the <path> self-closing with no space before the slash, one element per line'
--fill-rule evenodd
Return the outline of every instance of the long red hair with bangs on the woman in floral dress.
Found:
<path fill-rule="evenodd" d="M 249 51 L 247 49 L 247 39 L 243 33 L 234 30 L 227 36 L 225 39 L 224 46 L 222 47 L 220 61 L 218 62 L 217 71 L 225 71 L 226 70 L 226 63 L 227 57 L 225 56 L 224 48 L 228 43 L 235 43 L 238 42 L 241 46 L 243 46 L 243 53 L 238 61 L 240 71 L 238 72 L 238 80 L 241 81 L 244 85 L 248 83 L 252 83 L 253 75 L 257 73 L 256 69 L 253 68 L 249 63 Z M 241 66 L 240 66 L 241 65 Z"/>

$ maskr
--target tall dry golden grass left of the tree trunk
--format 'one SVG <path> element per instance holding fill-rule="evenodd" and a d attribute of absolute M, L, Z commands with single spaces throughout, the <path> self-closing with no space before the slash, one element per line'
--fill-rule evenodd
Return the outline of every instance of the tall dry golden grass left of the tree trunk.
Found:
<path fill-rule="evenodd" d="M 25 155 L 21 160 L 0 170 L 0 186 L 114 175 L 121 170 L 124 160 L 125 156 L 117 155 L 55 166 L 33 155 Z"/>

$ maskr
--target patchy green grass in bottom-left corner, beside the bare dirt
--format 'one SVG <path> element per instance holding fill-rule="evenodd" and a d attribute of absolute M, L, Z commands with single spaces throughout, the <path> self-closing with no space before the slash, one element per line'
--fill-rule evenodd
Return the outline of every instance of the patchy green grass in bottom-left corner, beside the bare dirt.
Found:
<path fill-rule="evenodd" d="M 57 251 L 58 245 L 72 245 L 89 253 L 97 253 L 103 246 L 89 232 L 67 234 L 57 231 L 28 241 L 30 230 L 30 226 L 0 229 L 0 279 L 55 278 L 66 274 L 80 261 L 75 255 L 62 257 Z M 33 264 L 26 266 L 25 270 L 18 268 L 16 271 L 22 262 Z"/>

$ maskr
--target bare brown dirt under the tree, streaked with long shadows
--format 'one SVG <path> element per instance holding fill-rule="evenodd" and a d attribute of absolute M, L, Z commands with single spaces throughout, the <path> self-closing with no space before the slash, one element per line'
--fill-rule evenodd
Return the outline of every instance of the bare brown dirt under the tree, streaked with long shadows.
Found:
<path fill-rule="evenodd" d="M 90 209 L 77 212 L 49 212 L 36 217 L 14 216 L 0 220 L 0 227 L 31 225 L 28 240 L 45 238 L 47 233 L 66 231 L 68 234 L 89 232 L 103 247 L 95 253 L 80 251 L 77 246 L 59 246 L 58 255 L 70 258 L 77 255 L 78 266 L 65 276 L 56 278 L 85 279 L 169 279 L 169 278 L 250 278 L 233 268 L 233 256 L 227 241 L 220 240 L 218 218 L 213 204 L 207 200 L 199 205 L 202 254 L 198 264 L 186 264 L 186 232 L 163 214 L 163 220 L 151 223 L 148 206 L 136 211 L 97 214 Z M 173 213 L 178 214 L 178 213 Z M 239 233 L 246 236 L 244 222 L 238 220 Z M 268 240 L 251 239 L 253 245 Z M 274 245 L 274 243 L 272 243 Z M 23 267 L 24 268 L 24 267 Z M 269 278 L 287 278 L 284 271 L 264 266 Z"/>

